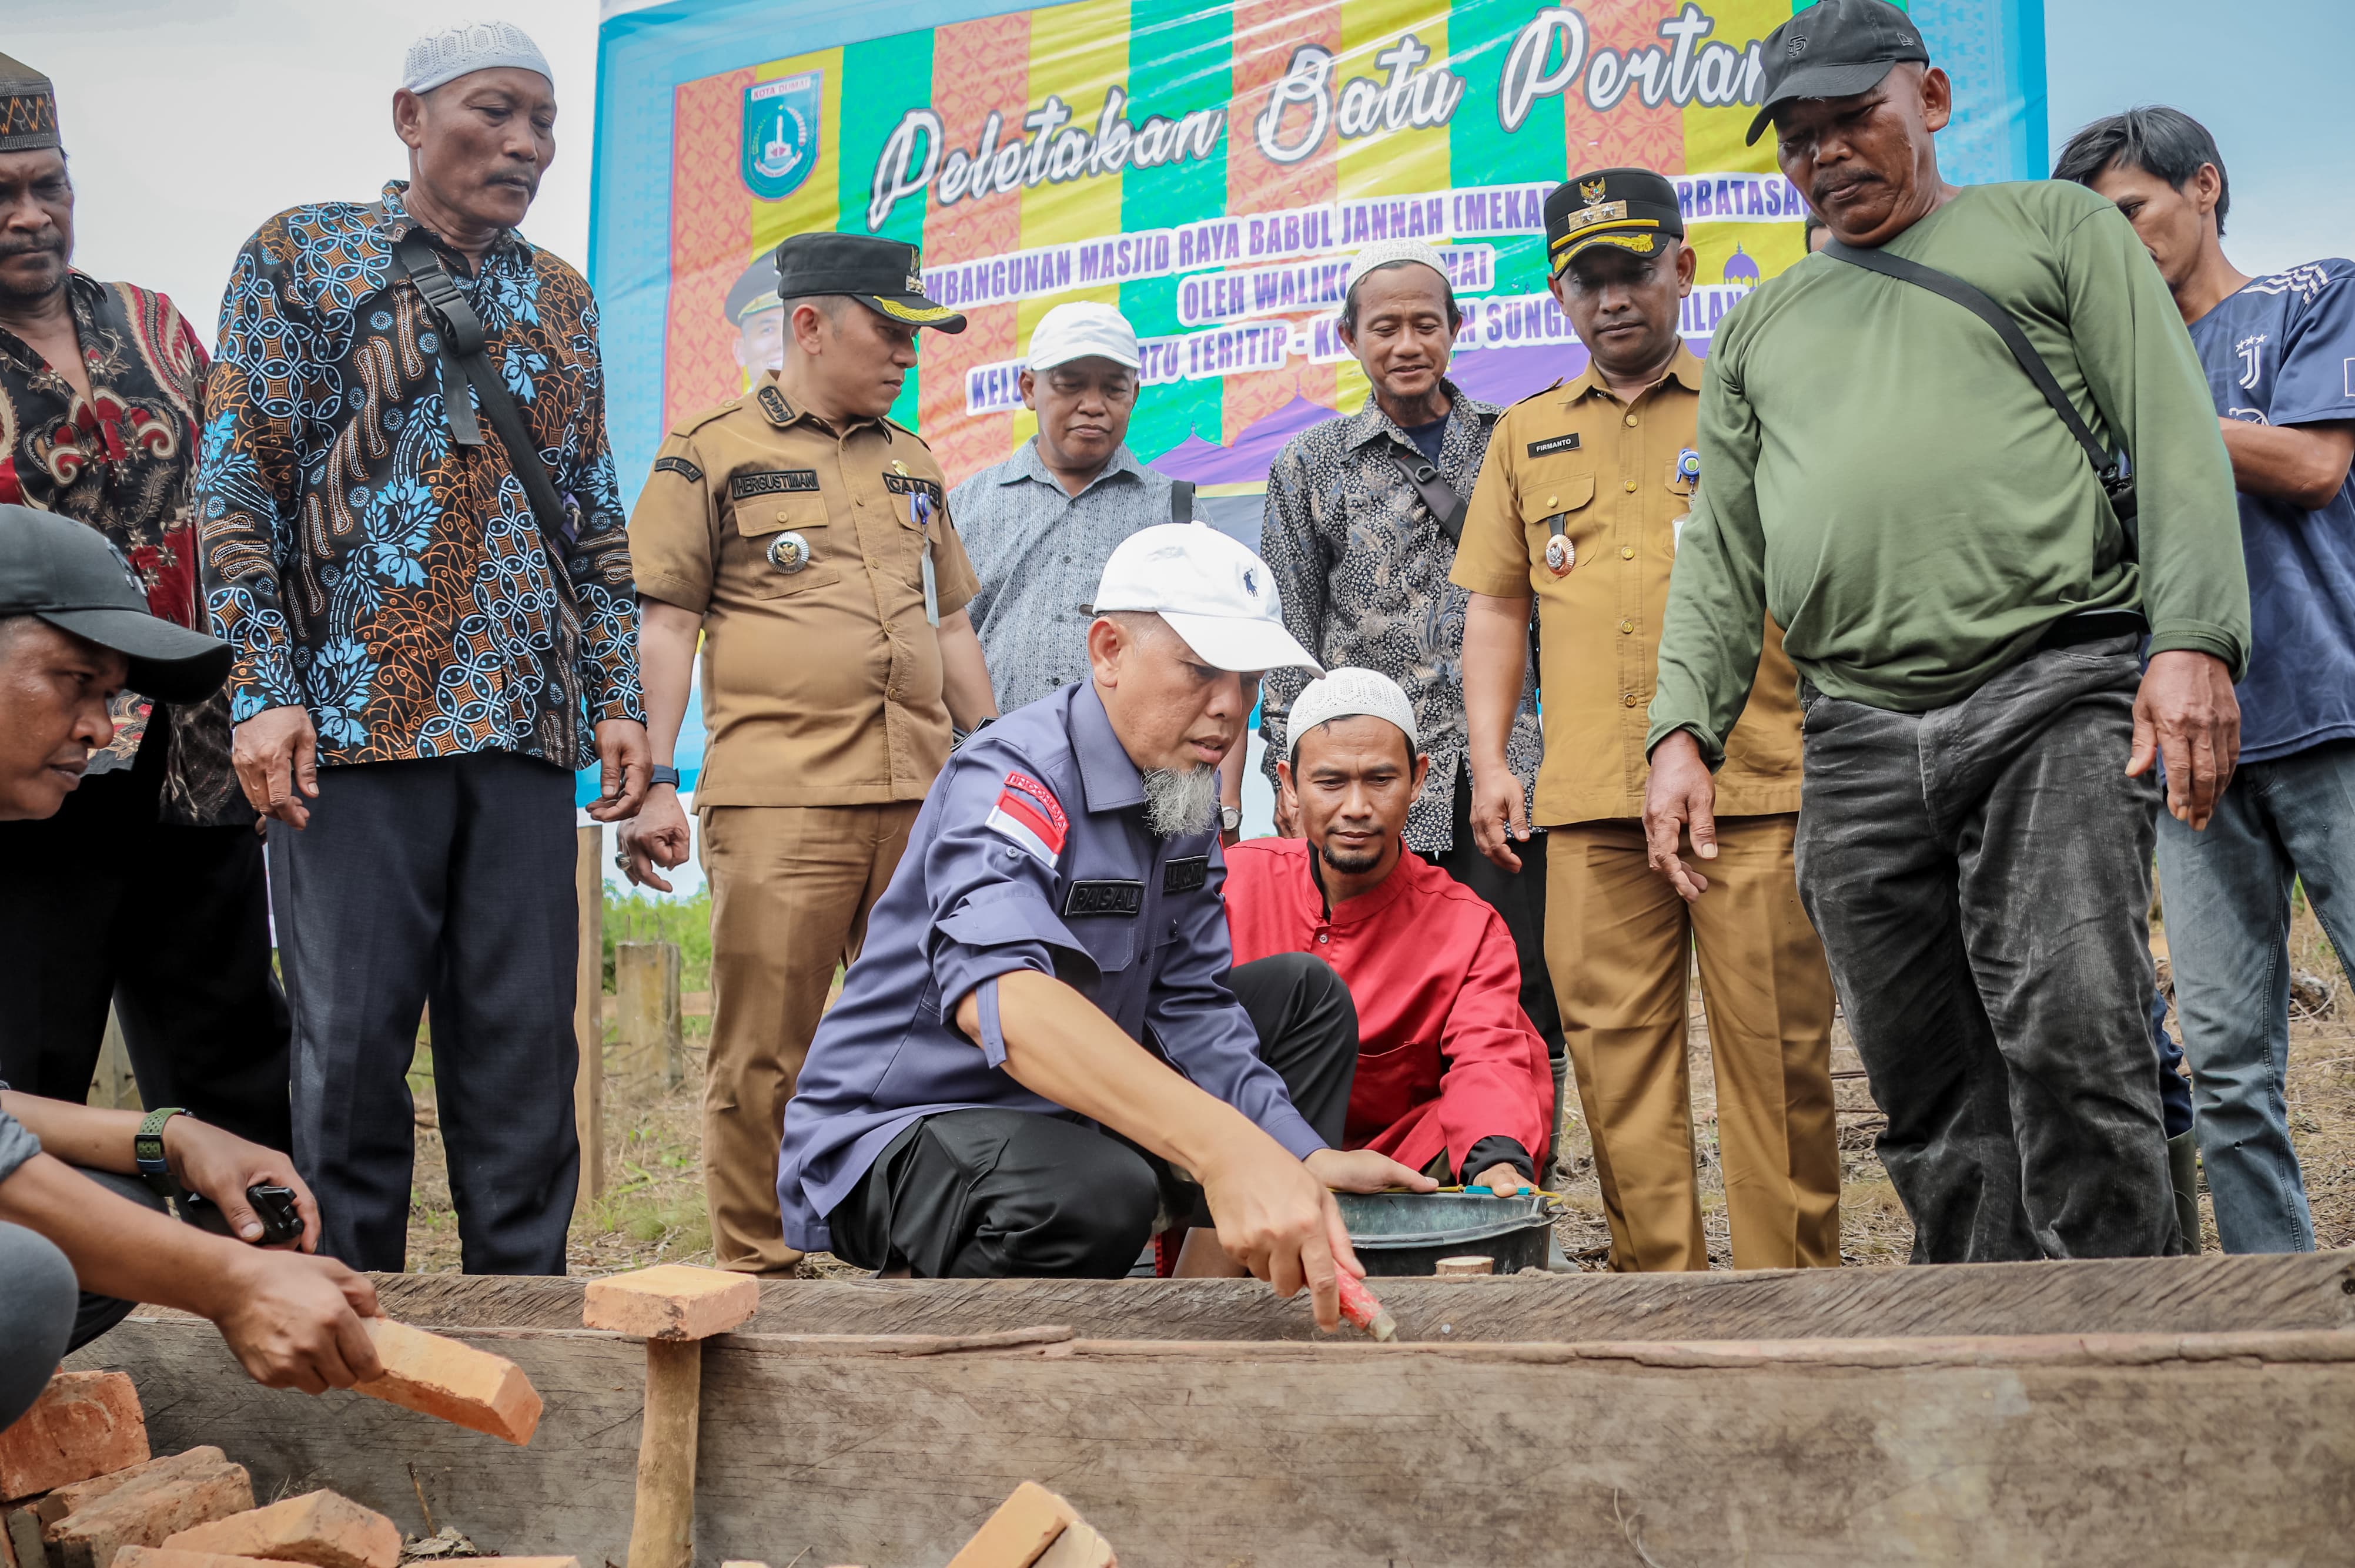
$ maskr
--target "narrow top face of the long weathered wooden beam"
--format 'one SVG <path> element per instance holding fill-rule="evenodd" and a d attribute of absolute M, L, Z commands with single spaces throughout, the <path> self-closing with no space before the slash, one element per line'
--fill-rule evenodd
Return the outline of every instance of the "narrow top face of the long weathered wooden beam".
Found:
<path fill-rule="evenodd" d="M 2355 1328 L 2355 1253 L 2115 1262 L 1385 1278 L 1408 1342 L 1823 1340 Z M 393 1316 L 572 1328 L 582 1281 L 379 1274 Z M 1314 1340 L 1307 1300 L 1258 1281 L 763 1281 L 747 1333 L 973 1335 L 1067 1323 L 1093 1340 Z"/>

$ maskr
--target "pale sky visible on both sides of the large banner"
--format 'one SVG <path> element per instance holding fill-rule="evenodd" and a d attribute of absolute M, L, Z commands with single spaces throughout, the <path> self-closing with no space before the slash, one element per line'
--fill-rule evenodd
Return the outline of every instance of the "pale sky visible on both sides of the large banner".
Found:
<path fill-rule="evenodd" d="M 596 0 L 0 0 L 0 52 L 57 80 L 80 191 L 75 264 L 165 290 L 207 341 L 228 264 L 264 217 L 365 200 L 405 172 L 391 129 L 400 54 L 462 16 L 516 21 L 556 68 L 558 155 L 523 228 L 589 261 Z M 2223 144 L 2225 240 L 2244 271 L 2355 250 L 2343 127 L 2355 2 L 2046 0 L 2046 42 L 2056 146 L 2112 108 L 2176 104 Z M 2228 68 L 2235 59 L 2263 71 Z"/>

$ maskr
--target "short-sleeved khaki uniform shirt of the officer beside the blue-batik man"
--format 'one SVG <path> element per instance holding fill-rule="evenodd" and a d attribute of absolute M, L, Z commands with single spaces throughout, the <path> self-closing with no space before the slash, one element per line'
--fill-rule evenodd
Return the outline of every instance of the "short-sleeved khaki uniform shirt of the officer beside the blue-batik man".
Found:
<path fill-rule="evenodd" d="M 768 558 L 784 532 L 808 546 L 798 572 Z M 784 400 L 777 372 L 669 433 L 629 558 L 638 593 L 704 617 L 697 810 L 923 798 L 949 760 L 926 534 L 940 614 L 956 614 L 973 563 L 930 447 L 890 419 L 834 431 Z"/>

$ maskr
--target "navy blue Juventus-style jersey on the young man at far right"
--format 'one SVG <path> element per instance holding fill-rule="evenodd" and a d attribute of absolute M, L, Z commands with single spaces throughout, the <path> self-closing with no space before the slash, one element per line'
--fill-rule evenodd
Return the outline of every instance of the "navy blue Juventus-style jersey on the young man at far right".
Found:
<path fill-rule="evenodd" d="M 2249 424 L 2355 419 L 2355 261 L 2258 278 L 2193 323 L 2216 412 Z M 2240 760 L 2355 737 L 2355 478 L 2317 511 L 2240 492 L 2249 673 Z"/>

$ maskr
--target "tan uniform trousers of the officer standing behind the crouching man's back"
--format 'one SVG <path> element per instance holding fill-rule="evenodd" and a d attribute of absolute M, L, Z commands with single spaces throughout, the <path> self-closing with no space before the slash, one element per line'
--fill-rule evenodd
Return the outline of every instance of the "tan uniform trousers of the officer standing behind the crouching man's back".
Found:
<path fill-rule="evenodd" d="M 867 937 L 921 800 L 711 805 L 711 1055 L 704 1062 L 704 1201 L 723 1269 L 791 1271 L 777 1215 L 777 1142 L 834 972 Z"/>

